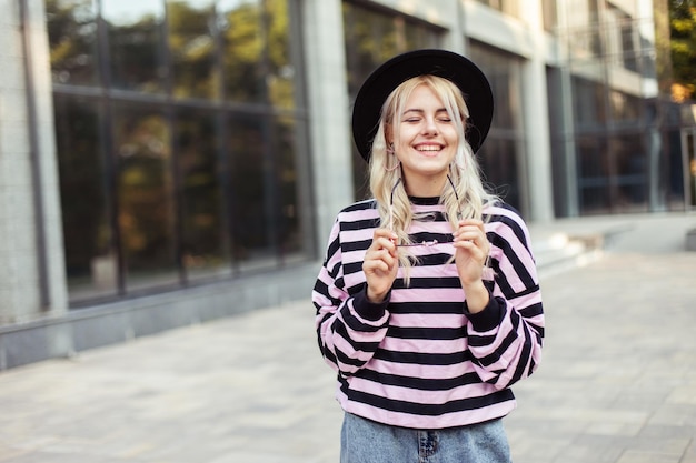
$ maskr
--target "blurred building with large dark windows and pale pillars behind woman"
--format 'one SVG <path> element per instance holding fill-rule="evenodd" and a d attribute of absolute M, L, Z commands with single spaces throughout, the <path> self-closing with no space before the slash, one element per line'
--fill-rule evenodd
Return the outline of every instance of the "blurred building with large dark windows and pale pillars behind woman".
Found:
<path fill-rule="evenodd" d="M 487 73 L 526 220 L 696 207 L 666 0 L 0 6 L 0 370 L 308 298 L 367 194 L 354 95 L 410 49 Z"/>

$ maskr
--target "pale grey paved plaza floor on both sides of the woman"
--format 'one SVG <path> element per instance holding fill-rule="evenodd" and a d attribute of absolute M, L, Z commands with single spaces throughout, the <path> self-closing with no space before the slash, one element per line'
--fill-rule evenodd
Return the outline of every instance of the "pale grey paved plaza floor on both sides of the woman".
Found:
<path fill-rule="evenodd" d="M 696 463 L 693 227 L 668 214 L 533 228 L 540 248 L 605 249 L 544 265 L 545 358 L 506 419 L 515 463 Z M 2 372 L 0 463 L 338 462 L 312 319 L 299 301 Z"/>

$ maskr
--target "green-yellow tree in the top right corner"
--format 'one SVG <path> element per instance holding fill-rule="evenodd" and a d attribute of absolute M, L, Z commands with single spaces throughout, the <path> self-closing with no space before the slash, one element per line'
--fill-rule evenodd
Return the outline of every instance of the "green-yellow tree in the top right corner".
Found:
<path fill-rule="evenodd" d="M 696 93 L 696 0 L 669 1 L 669 29 L 674 83 L 677 100 Z"/>

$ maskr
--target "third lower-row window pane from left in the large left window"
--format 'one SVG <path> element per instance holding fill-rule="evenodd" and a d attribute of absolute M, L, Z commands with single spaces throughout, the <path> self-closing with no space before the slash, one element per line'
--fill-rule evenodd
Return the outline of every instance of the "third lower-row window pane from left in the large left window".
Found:
<path fill-rule="evenodd" d="M 189 279 L 229 275 L 229 239 L 215 113 L 181 109 L 176 127 L 187 275 Z"/>

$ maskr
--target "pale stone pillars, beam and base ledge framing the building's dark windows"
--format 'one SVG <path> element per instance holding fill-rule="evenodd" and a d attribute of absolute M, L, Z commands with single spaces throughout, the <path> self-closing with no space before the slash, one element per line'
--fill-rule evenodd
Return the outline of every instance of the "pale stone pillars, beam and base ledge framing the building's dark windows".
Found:
<path fill-rule="evenodd" d="M 43 1 L 0 0 L 6 12 L 0 18 L 0 370 L 309 298 L 318 260 L 215 284 L 69 309 Z M 336 213 L 354 200 L 346 31 L 340 0 L 298 4 L 311 157 L 311 172 L 304 174 L 311 182 L 308 190 L 315 205 L 309 215 L 320 259 Z M 454 51 L 469 54 L 483 46 L 510 57 L 519 69 L 520 90 L 515 98 L 524 131 L 517 170 L 520 208 L 530 221 L 554 218 L 553 174 L 559 169 L 554 160 L 561 159 L 556 192 L 559 184 L 565 188 L 563 201 L 568 207 L 564 212 L 578 213 L 571 79 L 564 71 L 568 48 L 544 30 L 541 0 L 525 1 L 524 9 L 514 9 L 515 16 L 474 0 L 356 4 L 438 28 L 444 31 L 443 47 Z M 559 8 L 559 13 L 567 12 Z M 549 76 L 555 80 L 548 81 Z M 561 97 L 558 101 L 549 102 L 549 88 Z M 557 110 L 561 120 L 556 152 L 551 150 L 557 134 L 551 133 L 549 108 Z M 310 304 L 308 310 L 312 310 Z"/>

